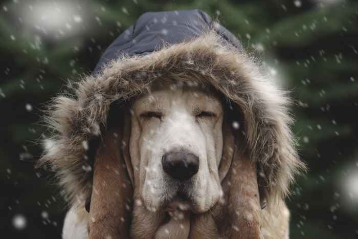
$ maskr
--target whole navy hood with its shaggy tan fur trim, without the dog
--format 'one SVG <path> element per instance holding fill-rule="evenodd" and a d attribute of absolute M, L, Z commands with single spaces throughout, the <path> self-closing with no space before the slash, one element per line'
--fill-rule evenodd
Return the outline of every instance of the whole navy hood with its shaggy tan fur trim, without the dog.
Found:
<path fill-rule="evenodd" d="M 284 197 L 303 164 L 290 131 L 289 99 L 262 73 L 240 42 L 198 10 L 146 13 L 116 39 L 95 71 L 50 103 L 44 119 L 50 137 L 40 164 L 48 164 L 78 204 L 92 190 L 88 155 L 105 131 L 114 102 L 148 92 L 161 79 L 211 85 L 243 113 L 251 159 L 267 183 L 269 202 Z"/>

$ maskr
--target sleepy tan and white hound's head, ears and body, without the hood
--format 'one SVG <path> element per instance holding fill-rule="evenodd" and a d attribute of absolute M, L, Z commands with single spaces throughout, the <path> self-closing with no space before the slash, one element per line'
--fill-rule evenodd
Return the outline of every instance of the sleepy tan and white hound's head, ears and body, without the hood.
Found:
<path fill-rule="evenodd" d="M 70 210 L 64 238 L 288 238 L 289 211 L 283 202 L 271 210 L 277 215 L 261 210 L 265 195 L 239 119 L 217 94 L 168 83 L 134 100 L 125 115 L 98 150 L 91 210 Z"/>

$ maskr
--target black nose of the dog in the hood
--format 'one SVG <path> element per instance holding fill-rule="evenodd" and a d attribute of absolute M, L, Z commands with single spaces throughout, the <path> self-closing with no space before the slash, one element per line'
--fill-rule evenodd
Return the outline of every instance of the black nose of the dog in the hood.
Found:
<path fill-rule="evenodd" d="M 172 178 L 185 181 L 199 170 L 199 158 L 183 151 L 170 152 L 162 157 L 163 169 Z"/>

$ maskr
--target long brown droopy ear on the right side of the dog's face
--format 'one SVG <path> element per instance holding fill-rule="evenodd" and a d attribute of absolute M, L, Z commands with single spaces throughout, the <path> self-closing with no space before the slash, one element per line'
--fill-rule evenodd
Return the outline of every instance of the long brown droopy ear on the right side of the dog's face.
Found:
<path fill-rule="evenodd" d="M 262 235 L 257 167 L 245 156 L 244 140 L 240 134 L 239 130 L 233 128 L 231 119 L 226 118 L 223 123 L 223 155 L 219 166 L 223 196 L 213 210 L 213 219 L 219 235 L 224 238 L 258 239 Z"/>

